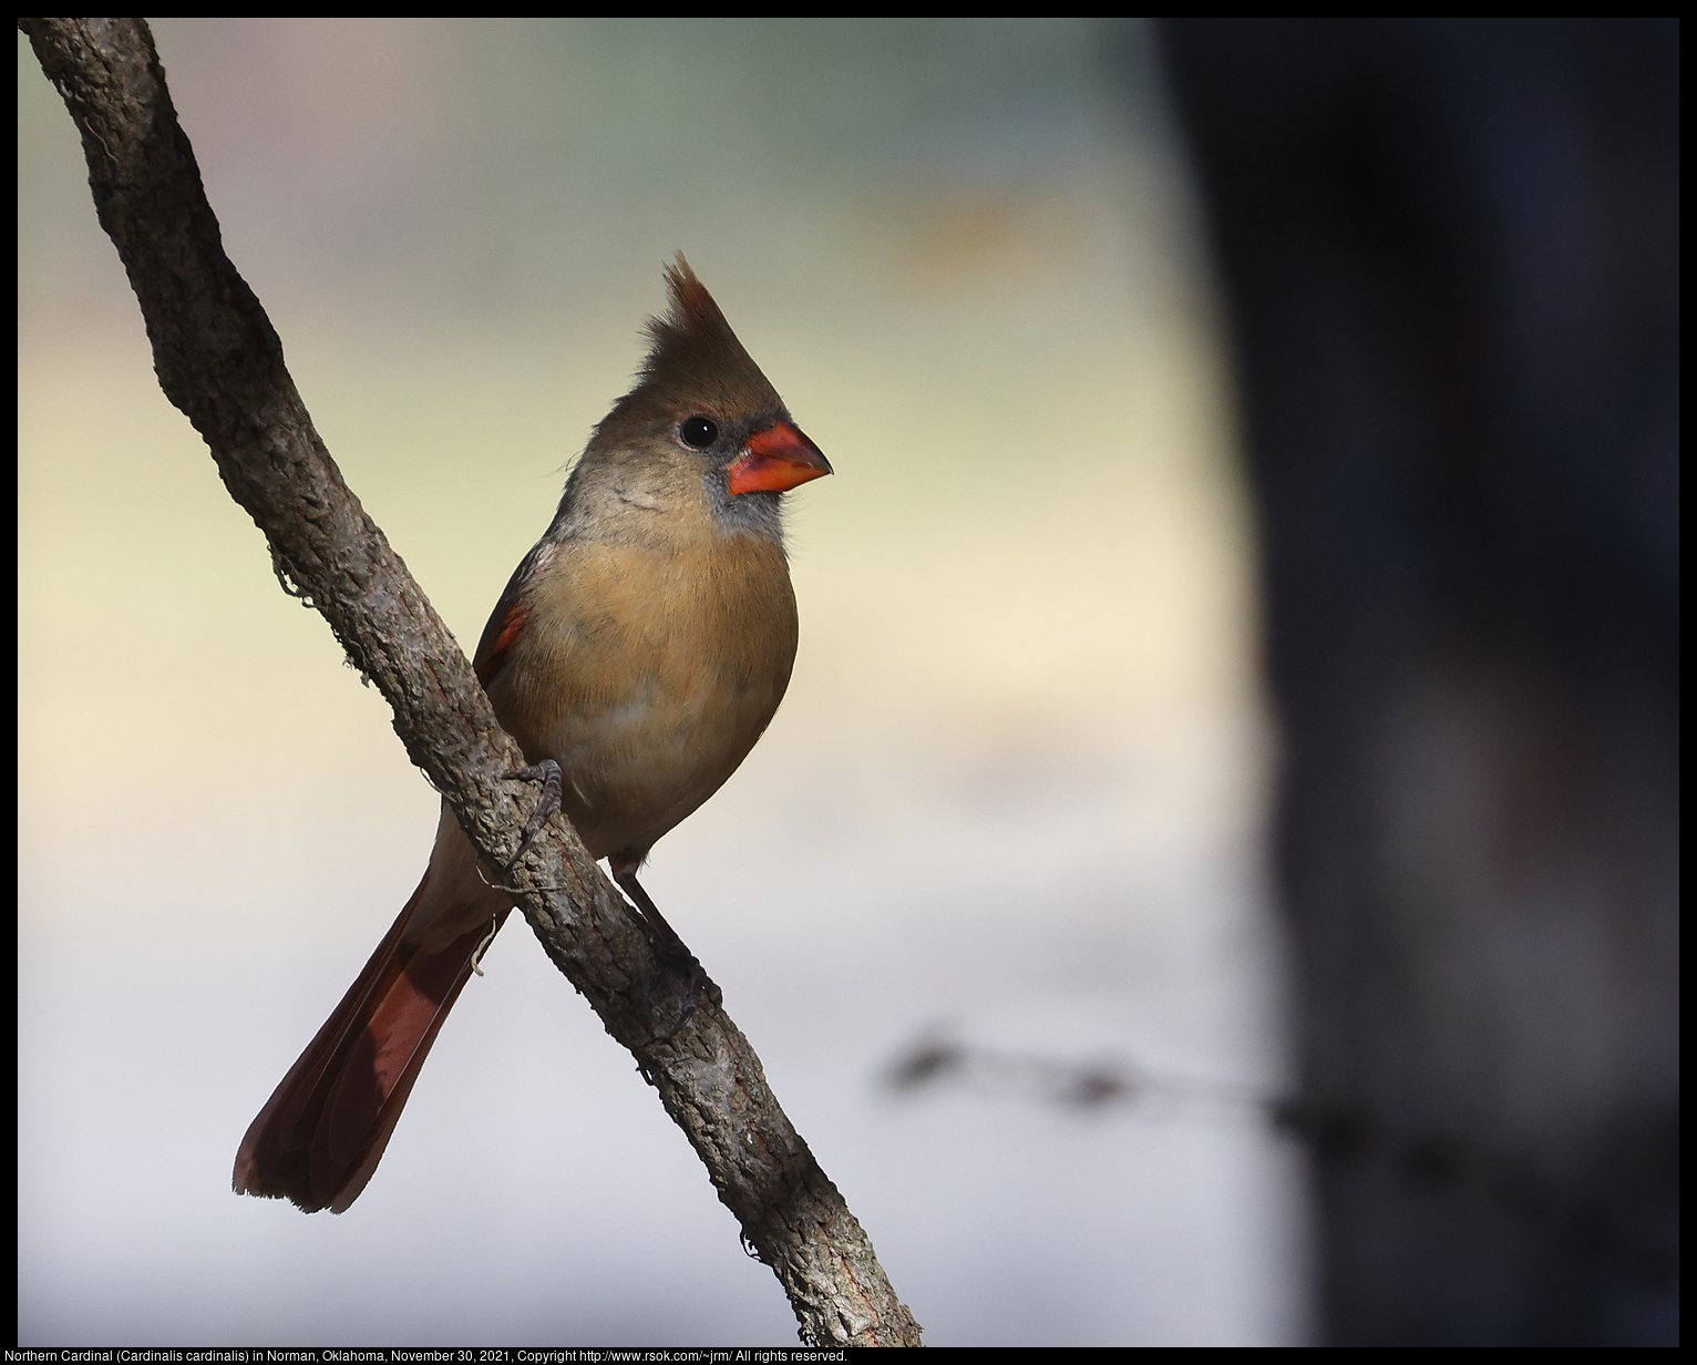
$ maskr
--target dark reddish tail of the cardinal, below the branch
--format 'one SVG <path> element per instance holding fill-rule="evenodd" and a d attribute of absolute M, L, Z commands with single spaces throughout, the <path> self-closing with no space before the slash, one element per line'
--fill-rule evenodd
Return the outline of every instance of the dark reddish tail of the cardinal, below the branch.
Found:
<path fill-rule="evenodd" d="M 490 937 L 485 920 L 433 952 L 402 942 L 429 878 L 248 1126 L 236 1153 L 236 1194 L 339 1214 L 372 1178 L 436 1031 Z M 497 930 L 507 908 L 496 915 Z"/>

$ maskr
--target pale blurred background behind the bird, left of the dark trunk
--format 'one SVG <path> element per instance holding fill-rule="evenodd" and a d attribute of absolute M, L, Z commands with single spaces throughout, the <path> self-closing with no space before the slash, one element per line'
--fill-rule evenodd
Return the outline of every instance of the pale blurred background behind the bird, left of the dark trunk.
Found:
<path fill-rule="evenodd" d="M 154 20 L 226 250 L 462 643 L 677 250 L 837 477 L 803 643 L 645 876 L 932 1345 L 1310 1340 L 1252 545 L 1154 36 L 1089 20 Z M 236 1144 L 436 798 L 154 384 L 19 39 L 24 1345 L 782 1345 L 514 922 L 341 1217 Z M 927 1039 L 1181 1078 L 896 1093 Z M 1222 1088 L 1224 1087 L 1224 1088 Z"/>

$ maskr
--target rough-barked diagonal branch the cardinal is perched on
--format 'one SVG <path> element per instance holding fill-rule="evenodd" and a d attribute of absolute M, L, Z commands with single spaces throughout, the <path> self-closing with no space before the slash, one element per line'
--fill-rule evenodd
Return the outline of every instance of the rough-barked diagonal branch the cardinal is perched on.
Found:
<path fill-rule="evenodd" d="M 100 226 L 117 244 L 165 396 L 205 438 L 278 577 L 329 621 L 395 713 L 407 756 L 490 866 L 519 844 L 524 766 L 460 647 L 343 482 L 283 367 L 260 301 L 224 255 L 200 170 L 139 19 L 20 19 L 81 132 Z M 765 1085 L 760 1059 L 703 1003 L 677 1034 L 682 985 L 565 818 L 509 874 L 555 966 L 660 1092 L 743 1238 L 784 1285 L 803 1340 L 920 1345 L 872 1244 Z"/>

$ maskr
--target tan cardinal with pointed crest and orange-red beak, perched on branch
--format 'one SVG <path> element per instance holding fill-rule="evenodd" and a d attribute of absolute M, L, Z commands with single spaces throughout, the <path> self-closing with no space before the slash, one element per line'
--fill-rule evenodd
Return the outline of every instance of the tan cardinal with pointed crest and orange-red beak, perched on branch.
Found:
<path fill-rule="evenodd" d="M 796 657 L 779 497 L 832 467 L 679 255 L 640 384 L 596 428 L 477 645 L 477 677 L 658 944 L 655 840 L 765 730 Z M 443 805 L 412 898 L 236 1153 L 238 1194 L 343 1212 L 512 902 Z M 704 981 L 692 958 L 689 1008 Z M 714 988 L 716 995 L 716 988 Z"/>

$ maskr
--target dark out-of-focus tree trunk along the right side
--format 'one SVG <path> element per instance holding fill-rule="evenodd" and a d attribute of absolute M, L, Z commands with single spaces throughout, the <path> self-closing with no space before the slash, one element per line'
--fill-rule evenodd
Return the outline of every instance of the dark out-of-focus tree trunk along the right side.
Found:
<path fill-rule="evenodd" d="M 1332 1345 L 1675 1345 L 1678 25 L 1173 22 Z"/>

